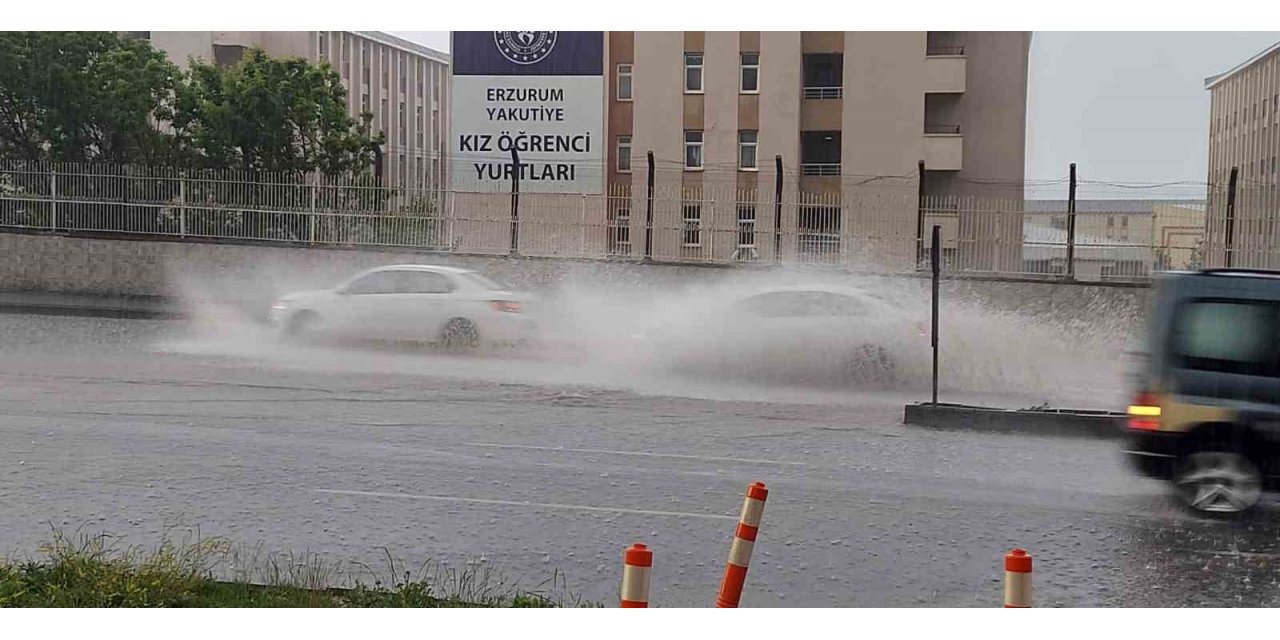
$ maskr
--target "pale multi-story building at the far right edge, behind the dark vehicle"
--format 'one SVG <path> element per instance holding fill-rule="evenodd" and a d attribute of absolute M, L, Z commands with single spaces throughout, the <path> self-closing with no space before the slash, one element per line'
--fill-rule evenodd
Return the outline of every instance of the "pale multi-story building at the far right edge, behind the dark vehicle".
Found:
<path fill-rule="evenodd" d="M 1280 42 L 1207 78 L 1208 266 L 1280 268 Z M 1229 198 L 1231 172 L 1235 193 Z M 1228 201 L 1234 205 L 1228 215 Z"/>

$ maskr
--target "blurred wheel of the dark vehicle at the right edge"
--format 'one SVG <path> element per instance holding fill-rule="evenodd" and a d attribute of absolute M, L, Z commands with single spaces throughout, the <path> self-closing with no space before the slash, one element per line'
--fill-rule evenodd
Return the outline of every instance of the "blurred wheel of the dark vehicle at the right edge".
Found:
<path fill-rule="evenodd" d="M 1262 497 L 1262 472 L 1234 451 L 1197 451 L 1178 461 L 1178 498 L 1188 508 L 1217 516 L 1252 509 Z"/>

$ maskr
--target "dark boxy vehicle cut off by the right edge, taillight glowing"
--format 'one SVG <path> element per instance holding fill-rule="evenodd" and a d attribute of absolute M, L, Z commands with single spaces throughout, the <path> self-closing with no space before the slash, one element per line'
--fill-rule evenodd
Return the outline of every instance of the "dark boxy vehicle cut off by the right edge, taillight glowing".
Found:
<path fill-rule="evenodd" d="M 1130 461 L 1207 515 L 1280 489 L 1280 271 L 1160 274 Z"/>

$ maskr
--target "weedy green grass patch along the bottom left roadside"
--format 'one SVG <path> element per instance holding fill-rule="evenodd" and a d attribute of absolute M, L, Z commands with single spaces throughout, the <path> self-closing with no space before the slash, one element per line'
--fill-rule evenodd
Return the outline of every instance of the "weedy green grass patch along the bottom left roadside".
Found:
<path fill-rule="evenodd" d="M 59 530 L 38 559 L 0 561 L 0 607 L 582 607 L 563 575 L 532 589 L 508 585 L 485 561 L 456 570 L 426 562 L 415 576 L 332 563 L 317 554 L 265 553 L 188 531 L 152 549 L 108 534 Z"/>

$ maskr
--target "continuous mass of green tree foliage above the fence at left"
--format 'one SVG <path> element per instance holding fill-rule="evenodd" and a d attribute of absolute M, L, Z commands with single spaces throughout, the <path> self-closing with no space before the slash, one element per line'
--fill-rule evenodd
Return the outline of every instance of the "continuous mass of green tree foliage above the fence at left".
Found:
<path fill-rule="evenodd" d="M 0 159 L 353 174 L 383 142 L 370 120 L 301 58 L 182 72 L 110 32 L 0 32 Z"/>

